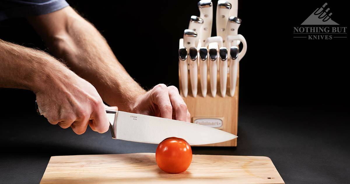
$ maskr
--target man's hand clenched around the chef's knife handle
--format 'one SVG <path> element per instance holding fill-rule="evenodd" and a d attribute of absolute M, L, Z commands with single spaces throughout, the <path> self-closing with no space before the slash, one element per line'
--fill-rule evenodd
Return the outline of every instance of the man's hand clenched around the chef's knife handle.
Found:
<path fill-rule="evenodd" d="M 36 91 L 36 100 L 42 115 L 51 124 L 71 127 L 79 135 L 86 131 L 88 124 L 99 133 L 109 129 L 105 105 L 89 82 L 67 69 L 45 83 Z"/>

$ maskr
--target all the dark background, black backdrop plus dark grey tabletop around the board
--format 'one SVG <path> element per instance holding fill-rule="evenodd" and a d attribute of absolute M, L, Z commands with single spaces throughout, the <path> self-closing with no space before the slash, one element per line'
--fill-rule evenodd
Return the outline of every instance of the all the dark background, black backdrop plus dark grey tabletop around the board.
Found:
<path fill-rule="evenodd" d="M 197 0 L 68 2 L 105 36 L 142 87 L 179 85 L 178 42 L 190 16 L 199 16 Z M 268 156 L 286 183 L 350 182 L 349 41 L 293 38 L 293 27 L 323 4 L 239 1 L 243 22 L 238 32 L 248 49 L 240 62 L 238 147 L 194 148 L 194 154 Z M 332 20 L 348 27 L 343 1 L 328 5 Z M 215 18 L 213 25 L 216 35 Z M 0 22 L 0 39 L 46 49 L 21 18 Z M 78 136 L 50 125 L 35 114 L 35 95 L 30 91 L 0 89 L 0 99 L 0 183 L 38 183 L 54 155 L 156 148 L 114 141 L 109 132 L 100 135 L 89 129 Z"/>

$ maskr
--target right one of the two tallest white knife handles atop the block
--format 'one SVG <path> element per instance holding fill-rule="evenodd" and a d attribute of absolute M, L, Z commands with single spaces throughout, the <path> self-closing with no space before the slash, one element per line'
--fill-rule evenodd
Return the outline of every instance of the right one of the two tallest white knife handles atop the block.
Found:
<path fill-rule="evenodd" d="M 231 3 L 225 0 L 219 0 L 216 8 L 216 35 L 221 36 L 224 40 L 224 46 L 226 41 L 226 24 L 229 19 L 229 12 L 231 9 Z"/>

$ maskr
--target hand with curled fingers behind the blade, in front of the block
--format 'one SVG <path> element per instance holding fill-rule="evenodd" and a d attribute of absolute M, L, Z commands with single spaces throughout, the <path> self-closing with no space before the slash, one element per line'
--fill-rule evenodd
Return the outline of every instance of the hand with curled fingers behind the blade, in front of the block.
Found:
<path fill-rule="evenodd" d="M 133 113 L 190 122 L 186 103 L 175 86 L 158 84 L 134 102 Z"/>

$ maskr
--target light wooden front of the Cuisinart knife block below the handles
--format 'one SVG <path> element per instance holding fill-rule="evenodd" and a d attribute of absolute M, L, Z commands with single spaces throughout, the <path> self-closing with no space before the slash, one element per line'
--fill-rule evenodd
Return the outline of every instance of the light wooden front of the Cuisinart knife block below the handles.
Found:
<path fill-rule="evenodd" d="M 209 61 L 208 61 L 209 63 Z M 198 65 L 199 66 L 199 65 Z M 208 66 L 209 70 L 209 66 Z M 209 74 L 209 72 L 208 72 Z M 189 76 L 189 75 L 188 75 Z M 208 89 L 207 89 L 207 96 L 203 97 L 202 90 L 201 90 L 201 82 L 200 82 L 200 71 L 198 71 L 198 92 L 197 96 L 193 97 L 192 91 L 191 91 L 191 81 L 188 81 L 188 95 L 187 97 L 184 97 L 181 90 L 181 78 L 180 78 L 180 72 L 179 72 L 179 84 L 180 84 L 180 94 L 187 104 L 188 111 L 191 114 L 191 122 L 194 123 L 194 121 L 198 118 L 217 118 L 222 120 L 222 127 L 219 127 L 218 129 L 230 132 L 231 134 L 237 135 L 237 127 L 238 127 L 238 86 L 239 86 L 239 68 L 238 68 L 238 75 L 237 75 L 237 86 L 235 95 L 233 97 L 230 96 L 230 84 L 229 84 L 229 76 L 228 74 L 228 82 L 226 86 L 226 96 L 222 97 L 220 93 L 220 75 L 218 72 L 217 75 L 217 93 L 216 96 L 213 97 L 211 95 L 210 90 L 210 76 L 208 75 Z M 190 77 L 188 77 L 190 78 Z M 237 146 L 237 138 L 226 141 L 222 143 L 216 143 L 216 144 L 206 144 L 201 146 Z"/>

